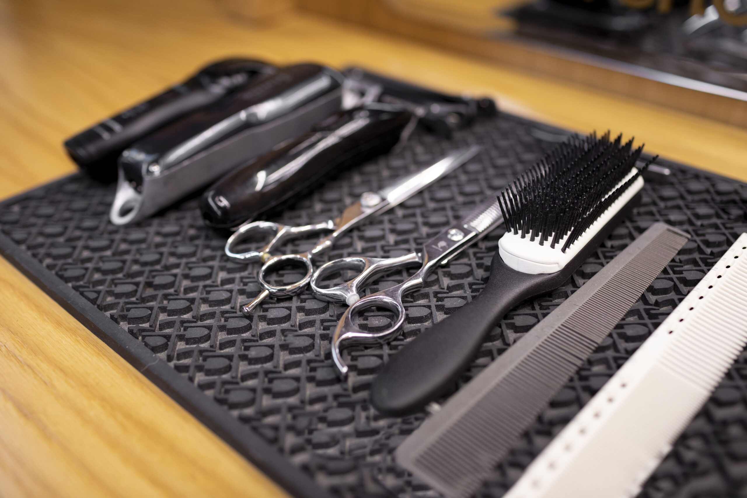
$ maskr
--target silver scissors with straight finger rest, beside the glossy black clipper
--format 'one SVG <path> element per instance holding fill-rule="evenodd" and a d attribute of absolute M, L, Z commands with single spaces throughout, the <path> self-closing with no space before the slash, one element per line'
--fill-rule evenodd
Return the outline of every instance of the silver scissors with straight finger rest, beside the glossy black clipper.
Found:
<path fill-rule="evenodd" d="M 264 263 L 258 274 L 258 280 L 262 287 L 262 292 L 260 292 L 260 294 L 248 304 L 241 307 L 242 313 L 252 313 L 258 304 L 260 304 L 264 298 L 267 298 L 268 295 L 283 297 L 296 295 L 303 291 L 303 289 L 305 289 L 309 284 L 311 274 L 314 271 L 312 259 L 331 249 L 338 237 L 342 236 L 356 225 L 363 223 L 368 218 L 379 215 L 380 213 L 397 206 L 397 204 L 404 200 L 409 199 L 409 197 L 412 197 L 412 195 L 426 188 L 431 183 L 436 182 L 436 180 L 441 179 L 457 167 L 468 162 L 468 160 L 472 159 L 479 150 L 480 147 L 477 146 L 457 150 L 444 157 L 444 159 L 436 162 L 434 165 L 426 167 L 417 173 L 394 180 L 391 185 L 388 185 L 377 192 L 365 192 L 361 195 L 359 200 L 356 200 L 355 203 L 347 206 L 342 214 L 334 220 L 327 220 L 322 223 L 306 225 L 303 227 L 288 227 L 269 221 L 255 221 L 240 227 L 229 238 L 228 242 L 226 242 L 226 254 L 229 258 L 237 261 L 261 261 Z M 316 245 L 314 245 L 314 248 L 311 248 L 311 250 L 306 253 L 281 254 L 276 256 L 271 254 L 274 249 L 289 239 L 294 239 L 306 233 L 327 230 L 332 231 L 332 233 L 319 239 Z M 270 242 L 260 250 L 249 251 L 247 253 L 235 253 L 233 251 L 233 248 L 238 244 L 238 242 L 246 239 L 249 233 L 257 231 L 270 232 L 275 235 Z M 273 269 L 277 269 L 280 266 L 287 265 L 288 263 L 300 263 L 305 266 L 306 275 L 301 280 L 285 286 L 271 285 L 267 281 L 267 276 L 273 271 Z"/>

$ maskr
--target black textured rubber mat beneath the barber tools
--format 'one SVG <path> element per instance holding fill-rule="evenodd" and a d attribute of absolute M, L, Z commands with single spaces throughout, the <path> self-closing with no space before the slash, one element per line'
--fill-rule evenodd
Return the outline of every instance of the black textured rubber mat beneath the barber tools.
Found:
<path fill-rule="evenodd" d="M 450 141 L 416 132 L 403 150 L 341 174 L 274 219 L 323 221 L 388 179 L 429 165 L 456 147 L 482 145 L 477 159 L 353 230 L 328 255 L 397 256 L 494 195 L 564 136 L 507 114 L 478 120 Z M 692 235 L 516 443 L 480 497 L 500 497 L 747 231 L 747 185 L 663 160 L 657 164 L 671 168 L 672 175 L 647 182 L 633 217 L 564 286 L 509 313 L 464 376 L 467 381 L 477 374 L 652 223 L 666 221 Z M 226 259 L 225 236 L 202 224 L 196 200 L 136 226 L 115 227 L 108 222 L 113 196 L 113 186 L 73 175 L 5 201 L 0 206 L 4 256 L 291 493 L 438 496 L 393 458 L 394 449 L 425 415 L 376 414 L 368 390 L 391 354 L 480 291 L 502 229 L 439 268 L 425 289 L 407 296 L 400 338 L 382 347 L 349 350 L 352 373 L 341 382 L 332 369 L 329 336 L 343 305 L 317 301 L 305 292 L 268 299 L 246 319 L 238 308 L 258 293 L 256 267 Z M 370 290 L 403 277 L 385 277 Z M 280 280 L 296 278 L 293 268 L 279 274 Z M 388 316 L 373 313 L 365 320 L 370 329 L 382 328 Z M 747 354 L 742 354 L 641 496 L 734 497 L 744 493 L 746 483 Z"/>

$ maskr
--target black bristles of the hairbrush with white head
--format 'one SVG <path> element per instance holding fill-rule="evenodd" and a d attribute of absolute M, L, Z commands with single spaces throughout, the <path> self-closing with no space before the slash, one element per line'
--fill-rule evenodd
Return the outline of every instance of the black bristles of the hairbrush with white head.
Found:
<path fill-rule="evenodd" d="M 563 241 L 565 252 L 648 167 L 617 186 L 642 150 L 633 149 L 632 138 L 622 144 L 622 135 L 610 141 L 610 132 L 574 135 L 498 196 L 506 230 L 551 248 Z"/>

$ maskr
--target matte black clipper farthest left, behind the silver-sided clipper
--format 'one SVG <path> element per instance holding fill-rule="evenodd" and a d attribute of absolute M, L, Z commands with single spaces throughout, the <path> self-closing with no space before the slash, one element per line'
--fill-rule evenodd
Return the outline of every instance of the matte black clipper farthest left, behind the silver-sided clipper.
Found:
<path fill-rule="evenodd" d="M 230 58 L 203 67 L 185 82 L 109 117 L 64 142 L 82 170 L 102 181 L 117 178 L 117 157 L 134 141 L 170 121 L 216 102 L 253 79 L 277 70 L 272 64 Z"/>

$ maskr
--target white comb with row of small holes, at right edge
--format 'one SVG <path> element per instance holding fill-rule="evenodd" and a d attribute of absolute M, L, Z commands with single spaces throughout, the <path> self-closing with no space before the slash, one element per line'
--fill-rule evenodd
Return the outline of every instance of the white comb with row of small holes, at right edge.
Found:
<path fill-rule="evenodd" d="M 747 233 L 505 498 L 634 497 L 747 345 Z"/>

